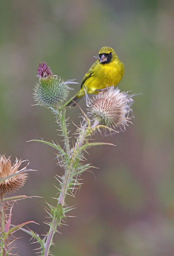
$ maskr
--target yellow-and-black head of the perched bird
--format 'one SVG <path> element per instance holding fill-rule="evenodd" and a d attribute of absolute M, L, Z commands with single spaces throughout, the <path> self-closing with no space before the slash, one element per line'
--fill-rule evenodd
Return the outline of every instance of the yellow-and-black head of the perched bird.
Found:
<path fill-rule="evenodd" d="M 117 57 L 116 52 L 109 46 L 104 46 L 99 51 L 99 58 L 102 64 L 109 63 Z"/>

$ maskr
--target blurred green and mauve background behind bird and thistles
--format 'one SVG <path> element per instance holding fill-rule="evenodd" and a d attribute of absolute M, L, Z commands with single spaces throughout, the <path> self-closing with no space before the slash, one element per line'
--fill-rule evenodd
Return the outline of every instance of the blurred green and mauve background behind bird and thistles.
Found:
<path fill-rule="evenodd" d="M 12 222 L 39 234 L 48 226 L 45 201 L 55 204 L 62 175 L 55 152 L 31 139 L 61 141 L 49 109 L 34 105 L 39 61 L 64 79 L 81 80 L 102 46 L 111 46 L 125 65 L 118 84 L 139 94 L 132 106 L 133 125 L 126 132 L 96 134 L 96 141 L 117 147 L 90 148 L 91 169 L 52 247 L 61 256 L 174 255 L 174 2 L 141 0 L 62 0 L 0 2 L 0 154 L 28 159 L 29 179 L 17 194 L 42 196 L 22 200 Z M 80 87 L 72 85 L 71 97 Z M 80 101 L 85 110 L 85 101 Z M 80 123 L 80 110 L 67 109 L 70 129 Z M 36 244 L 18 231 L 19 255 L 34 255 Z"/>

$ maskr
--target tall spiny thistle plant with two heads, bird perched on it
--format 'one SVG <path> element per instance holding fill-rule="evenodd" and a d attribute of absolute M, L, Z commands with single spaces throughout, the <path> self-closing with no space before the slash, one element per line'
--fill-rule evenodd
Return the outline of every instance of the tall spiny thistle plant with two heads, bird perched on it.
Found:
<path fill-rule="evenodd" d="M 22 228 L 23 231 L 31 235 L 40 244 L 38 254 L 48 256 L 50 246 L 53 244 L 53 236 L 58 232 L 60 224 L 66 221 L 68 212 L 72 210 L 71 206 L 66 204 L 66 196 L 74 196 L 76 189 L 81 186 L 80 175 L 91 166 L 84 163 L 84 152 L 87 148 L 110 143 L 91 142 L 90 138 L 97 131 L 109 130 L 116 131 L 131 122 L 129 113 L 132 105 L 132 98 L 119 89 L 109 88 L 104 93 L 99 93 L 87 102 L 87 114 L 82 112 L 81 125 L 77 128 L 76 137 L 73 140 L 73 147 L 70 146 L 69 131 L 66 118 L 66 105 L 73 99 L 66 101 L 69 90 L 69 84 L 75 83 L 74 80 L 64 81 L 58 76 L 53 76 L 51 69 L 47 64 L 39 63 L 38 67 L 39 81 L 34 88 L 34 100 L 36 105 L 49 108 L 56 116 L 57 124 L 64 138 L 64 147 L 56 142 L 47 142 L 43 140 L 32 140 L 45 143 L 57 150 L 58 164 L 63 168 L 63 176 L 56 174 L 59 186 L 59 196 L 55 206 L 48 204 L 47 212 L 50 217 L 49 231 L 41 239 L 31 230 Z M 118 132 L 118 131 L 117 131 Z"/>

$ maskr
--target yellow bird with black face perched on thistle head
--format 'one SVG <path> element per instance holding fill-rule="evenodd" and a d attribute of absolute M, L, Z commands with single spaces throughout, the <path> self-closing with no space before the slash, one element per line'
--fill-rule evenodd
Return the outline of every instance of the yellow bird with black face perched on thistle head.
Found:
<path fill-rule="evenodd" d="M 116 52 L 111 47 L 102 47 L 99 51 L 99 59 L 86 73 L 81 82 L 80 91 L 67 106 L 75 107 L 85 93 L 98 93 L 107 87 L 116 86 L 121 81 L 124 72 L 124 64 L 119 60 Z"/>

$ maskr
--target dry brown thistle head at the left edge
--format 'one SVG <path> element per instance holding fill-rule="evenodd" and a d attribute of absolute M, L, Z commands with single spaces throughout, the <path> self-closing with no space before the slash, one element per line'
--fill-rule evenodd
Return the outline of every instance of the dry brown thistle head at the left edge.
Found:
<path fill-rule="evenodd" d="M 20 165 L 22 164 L 21 159 L 18 160 L 16 158 L 16 162 L 11 165 L 10 157 L 6 158 L 5 156 L 0 156 L 0 178 L 5 178 L 11 174 L 18 173 L 19 171 L 26 170 L 25 166 L 23 169 L 18 170 Z M 14 191 L 16 189 L 21 188 L 27 179 L 27 173 L 19 173 L 14 177 L 6 179 L 0 182 L 0 195 L 4 195 L 7 192 Z"/>

